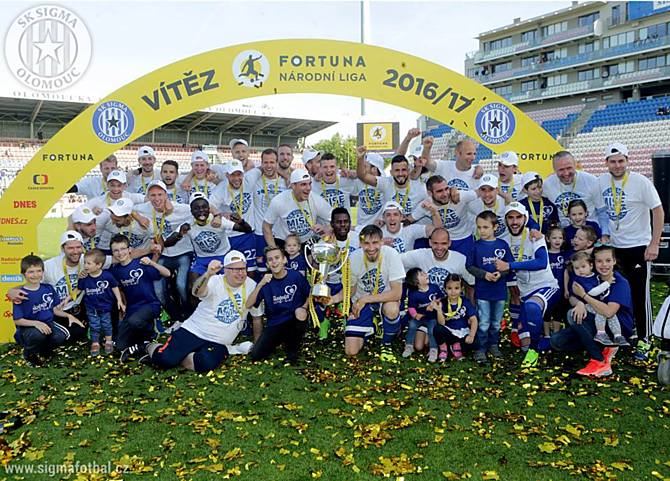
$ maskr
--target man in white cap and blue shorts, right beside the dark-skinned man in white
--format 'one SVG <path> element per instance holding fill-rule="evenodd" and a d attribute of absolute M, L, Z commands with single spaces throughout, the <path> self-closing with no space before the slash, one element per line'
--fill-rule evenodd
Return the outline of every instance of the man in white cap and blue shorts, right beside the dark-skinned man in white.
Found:
<path fill-rule="evenodd" d="M 210 204 L 221 212 L 229 212 L 231 219 L 244 219 L 252 227 L 256 225 L 252 202 L 251 179 L 244 174 L 244 166 L 239 160 L 228 162 L 227 182 L 221 182 L 214 189 Z M 228 234 L 230 247 L 242 252 L 247 258 L 247 269 L 256 270 L 256 234 L 254 232 L 233 231 Z"/>

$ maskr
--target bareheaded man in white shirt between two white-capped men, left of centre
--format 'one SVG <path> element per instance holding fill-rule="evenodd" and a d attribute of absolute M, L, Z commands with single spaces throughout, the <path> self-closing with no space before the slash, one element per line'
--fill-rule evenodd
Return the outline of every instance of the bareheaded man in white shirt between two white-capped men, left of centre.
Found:
<path fill-rule="evenodd" d="M 277 151 L 265 149 L 261 153 L 261 168 L 246 170 L 245 179 L 248 179 L 251 187 L 253 205 L 254 233 L 256 235 L 256 265 L 259 271 L 264 272 L 265 263 L 263 252 L 266 244 L 264 235 L 263 218 L 270 207 L 271 201 L 286 190 L 286 181 L 277 173 Z"/>

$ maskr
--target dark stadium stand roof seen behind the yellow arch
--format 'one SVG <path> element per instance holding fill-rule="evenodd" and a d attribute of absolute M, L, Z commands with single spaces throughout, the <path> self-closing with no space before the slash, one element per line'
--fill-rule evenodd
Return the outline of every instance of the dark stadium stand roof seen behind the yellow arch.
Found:
<path fill-rule="evenodd" d="M 91 104 L 58 100 L 0 97 L 0 121 L 21 123 L 49 123 L 65 125 Z M 213 107 L 193 112 L 173 120 L 161 128 L 200 131 L 228 132 L 240 134 L 264 134 L 274 136 L 307 137 L 337 122 L 328 120 L 293 119 L 256 114 L 252 110 L 239 113 L 220 111 Z"/>

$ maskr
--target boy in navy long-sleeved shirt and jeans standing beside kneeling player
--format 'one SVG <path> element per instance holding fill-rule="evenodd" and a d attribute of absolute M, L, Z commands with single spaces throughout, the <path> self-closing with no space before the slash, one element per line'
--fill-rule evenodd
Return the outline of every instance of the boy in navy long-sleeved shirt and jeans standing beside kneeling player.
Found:
<path fill-rule="evenodd" d="M 468 272 L 475 276 L 475 298 L 479 324 L 477 328 L 478 349 L 475 361 L 486 362 L 488 351 L 495 359 L 502 354 L 498 347 L 500 323 L 507 300 L 507 275 L 496 269 L 496 259 L 511 262 L 512 251 L 509 244 L 495 236 L 497 216 L 490 210 L 477 215 L 475 219 L 479 239 L 468 256 Z"/>

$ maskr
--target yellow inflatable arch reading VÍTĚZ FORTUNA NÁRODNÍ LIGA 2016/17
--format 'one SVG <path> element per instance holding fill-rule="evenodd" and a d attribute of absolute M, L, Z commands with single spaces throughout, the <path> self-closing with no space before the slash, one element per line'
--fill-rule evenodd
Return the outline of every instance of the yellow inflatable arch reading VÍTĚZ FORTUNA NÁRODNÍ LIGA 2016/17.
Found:
<path fill-rule="evenodd" d="M 364 97 L 427 115 L 494 152 L 513 150 L 521 168 L 549 171 L 560 145 L 491 90 L 427 60 L 334 40 L 272 40 L 224 47 L 162 67 L 92 105 L 45 144 L 0 198 L 0 342 L 14 331 L 8 288 L 20 259 L 37 251 L 37 225 L 100 159 L 199 109 L 264 95 Z M 53 235 L 60 235 L 54 232 Z"/>

